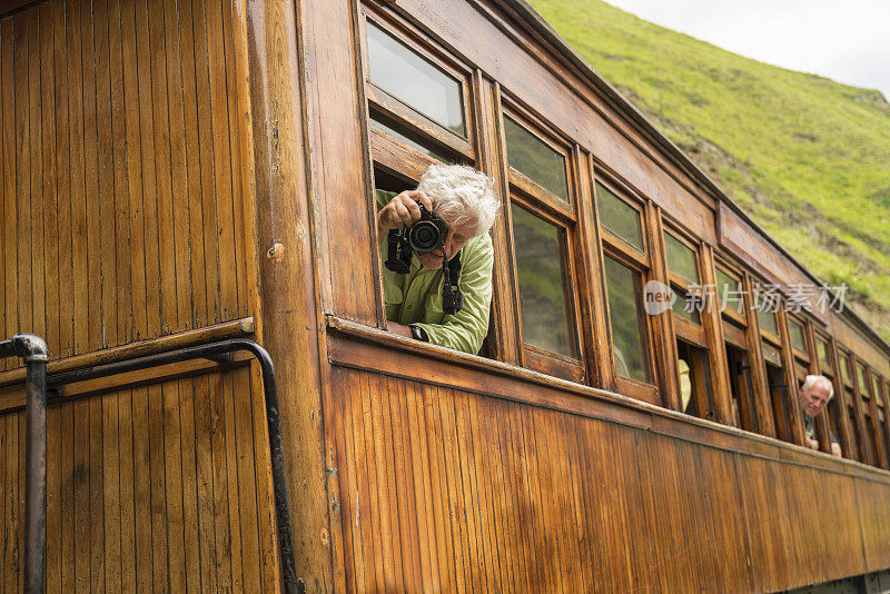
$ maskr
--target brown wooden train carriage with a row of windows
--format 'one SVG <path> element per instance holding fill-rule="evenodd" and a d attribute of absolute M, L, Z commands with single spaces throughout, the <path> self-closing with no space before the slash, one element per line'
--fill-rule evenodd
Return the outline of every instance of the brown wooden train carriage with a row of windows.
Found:
<path fill-rule="evenodd" d="M 760 592 L 890 567 L 890 347 L 522 0 L 0 11 L 3 334 L 44 336 L 51 374 L 265 345 L 301 590 Z M 373 190 L 436 161 L 503 200 L 479 356 L 386 331 Z M 652 280 L 723 307 L 650 316 Z M 822 453 L 794 405 L 817 372 Z M 0 373 L 2 592 L 22 376 Z M 48 592 L 280 587 L 256 366 L 51 403 Z"/>

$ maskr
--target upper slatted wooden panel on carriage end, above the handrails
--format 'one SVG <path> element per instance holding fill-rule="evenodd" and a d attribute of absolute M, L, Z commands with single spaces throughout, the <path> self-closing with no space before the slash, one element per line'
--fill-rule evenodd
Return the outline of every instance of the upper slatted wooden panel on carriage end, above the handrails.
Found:
<path fill-rule="evenodd" d="M 248 313 L 233 10 L 53 0 L 0 20 L 4 336 L 58 359 Z"/>

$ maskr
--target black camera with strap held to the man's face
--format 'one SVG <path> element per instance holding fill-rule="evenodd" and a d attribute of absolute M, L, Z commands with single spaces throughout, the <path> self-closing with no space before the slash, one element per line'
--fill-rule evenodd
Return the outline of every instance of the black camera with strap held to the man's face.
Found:
<path fill-rule="evenodd" d="M 386 259 L 386 267 L 399 275 L 411 271 L 412 253 L 418 256 L 429 254 L 445 246 L 445 236 L 448 235 L 448 226 L 438 215 L 421 208 L 421 220 L 403 229 L 389 229 L 387 244 L 389 255 Z M 442 309 L 446 314 L 456 314 L 464 306 L 464 296 L 457 285 L 461 278 L 461 253 L 458 251 L 451 260 L 443 256 L 442 271 L 445 275 L 445 285 L 442 288 Z"/>

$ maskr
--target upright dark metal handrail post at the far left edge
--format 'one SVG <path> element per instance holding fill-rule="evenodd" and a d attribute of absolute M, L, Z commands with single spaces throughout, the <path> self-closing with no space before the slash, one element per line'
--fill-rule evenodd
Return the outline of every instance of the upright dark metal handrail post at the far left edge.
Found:
<path fill-rule="evenodd" d="M 34 334 L 0 340 L 0 358 L 24 360 L 24 593 L 42 594 L 47 551 L 47 344 Z"/>

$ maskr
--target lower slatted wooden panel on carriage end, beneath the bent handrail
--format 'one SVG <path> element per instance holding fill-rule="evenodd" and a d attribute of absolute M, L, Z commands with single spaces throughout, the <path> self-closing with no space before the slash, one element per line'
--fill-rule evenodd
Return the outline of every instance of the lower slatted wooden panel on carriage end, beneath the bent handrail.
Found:
<path fill-rule="evenodd" d="M 277 588 L 248 367 L 48 412 L 47 591 Z M 261 412 L 261 409 L 260 409 Z M 21 590 L 24 414 L 0 416 L 0 584 Z"/>

